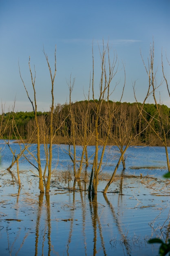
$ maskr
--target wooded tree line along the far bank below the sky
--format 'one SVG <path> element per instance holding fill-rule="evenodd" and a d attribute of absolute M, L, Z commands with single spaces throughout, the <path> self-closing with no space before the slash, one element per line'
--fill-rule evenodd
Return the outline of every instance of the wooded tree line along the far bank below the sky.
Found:
<path fill-rule="evenodd" d="M 98 100 L 95 100 L 97 102 Z M 141 105 L 141 103 L 138 103 Z M 119 141 L 119 136 L 121 134 L 120 121 L 124 123 L 125 126 L 133 126 L 135 124 L 133 130 L 133 136 L 135 137 L 134 144 L 141 145 L 151 145 L 151 146 L 163 146 L 162 142 L 156 136 L 154 130 L 159 133 L 161 136 L 163 134 L 162 126 L 157 118 L 157 108 L 155 104 L 145 103 L 144 104 L 144 113 L 145 116 L 137 119 L 139 109 L 137 107 L 137 103 L 121 103 L 121 102 L 113 102 L 109 101 L 110 109 L 114 112 L 114 115 L 111 120 L 111 130 L 110 135 L 108 138 L 108 144 L 116 144 L 116 141 Z M 70 107 L 72 109 L 72 119 L 70 113 Z M 78 101 L 75 103 L 71 103 L 71 106 L 67 103 L 64 105 L 58 104 L 54 108 L 53 113 L 53 129 L 57 130 L 55 137 L 53 139 L 53 143 L 57 144 L 73 144 L 73 127 L 75 130 L 75 144 L 81 145 L 82 140 L 81 138 L 84 135 L 84 118 L 85 113 L 88 110 L 88 117 L 86 130 L 87 130 L 87 137 L 91 138 L 89 141 L 89 145 L 95 144 L 95 137 L 91 136 L 94 133 L 95 129 L 95 103 L 93 100 L 89 102 L 85 101 Z M 169 144 L 170 140 L 170 108 L 166 105 L 160 105 L 161 116 L 163 121 L 163 126 L 166 132 L 166 139 Z M 102 103 L 101 108 L 101 115 L 98 120 L 99 125 L 99 139 L 102 141 L 106 138 L 106 125 L 105 125 L 105 117 L 106 117 L 106 102 Z M 122 115 L 123 114 L 123 115 Z M 50 112 L 38 112 L 38 123 L 39 126 L 42 127 L 45 123 L 46 127 L 48 127 L 49 120 L 50 120 Z M 154 119 L 152 117 L 155 117 Z M 3 139 L 19 139 L 19 135 L 16 133 L 16 127 L 13 128 L 13 118 L 15 119 L 15 123 L 18 129 L 18 133 L 20 136 L 26 140 L 30 141 L 30 139 L 34 142 L 35 137 L 31 137 L 34 130 L 35 130 L 35 114 L 34 112 L 7 112 L 0 115 L 0 122 L 2 122 L 1 129 L 4 130 Z M 123 119 L 123 120 L 122 120 Z M 151 120 L 152 119 L 152 120 Z M 148 122 L 150 122 L 150 126 L 148 126 Z M 62 125 L 61 125 L 62 124 Z M 46 134 L 48 136 L 48 134 Z M 43 136 L 44 137 L 44 134 Z M 42 141 L 41 141 L 42 142 Z M 100 143 L 101 144 L 101 143 Z"/>

